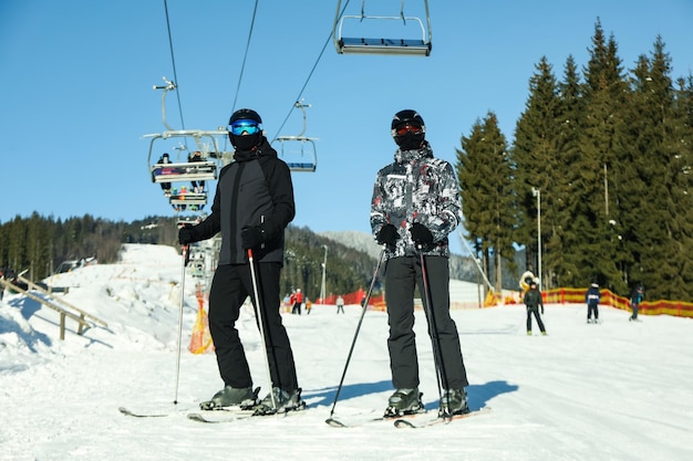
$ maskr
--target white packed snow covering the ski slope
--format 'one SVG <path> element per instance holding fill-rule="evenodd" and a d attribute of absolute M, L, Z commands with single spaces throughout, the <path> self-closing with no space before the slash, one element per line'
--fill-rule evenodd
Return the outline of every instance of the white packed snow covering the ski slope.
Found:
<path fill-rule="evenodd" d="M 385 313 L 366 311 L 337 405 L 361 306 L 348 305 L 339 315 L 330 305 L 316 305 L 310 315 L 287 313 L 307 410 L 192 421 L 187 413 L 223 383 L 213 353 L 188 352 L 198 308 L 190 273 L 178 340 L 180 275 L 175 249 L 125 245 L 117 264 L 48 279 L 69 287 L 54 296 L 107 323 L 80 336 L 66 319 L 64 340 L 58 312 L 6 292 L 1 460 L 693 459 L 693 323 L 669 316 L 633 323 L 629 313 L 604 306 L 594 325 L 587 324 L 585 305 L 548 305 L 548 336 L 536 324 L 527 335 L 523 306 L 454 310 L 470 407 L 490 411 L 422 429 L 366 422 L 382 415 L 392 392 Z M 417 321 L 421 390 L 435 412 L 438 390 L 423 312 Z M 238 328 L 263 396 L 269 386 L 250 308 Z M 118 407 L 164 416 L 133 418 Z M 356 426 L 333 428 L 324 422 L 330 416 Z"/>

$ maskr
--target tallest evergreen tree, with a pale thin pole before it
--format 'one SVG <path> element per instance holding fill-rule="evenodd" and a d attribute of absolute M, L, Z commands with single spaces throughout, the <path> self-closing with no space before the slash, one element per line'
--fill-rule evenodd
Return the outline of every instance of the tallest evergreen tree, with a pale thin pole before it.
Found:
<path fill-rule="evenodd" d="M 613 36 L 604 38 L 598 21 L 592 36 L 590 60 L 585 70 L 585 119 L 579 132 L 581 156 L 573 166 L 577 201 L 576 220 L 569 234 L 576 238 L 570 265 L 576 273 L 565 282 L 586 286 L 598 282 L 614 289 L 620 283 L 616 264 L 618 245 L 611 222 L 620 222 L 619 201 L 621 158 L 627 149 L 623 107 L 628 85 Z"/>

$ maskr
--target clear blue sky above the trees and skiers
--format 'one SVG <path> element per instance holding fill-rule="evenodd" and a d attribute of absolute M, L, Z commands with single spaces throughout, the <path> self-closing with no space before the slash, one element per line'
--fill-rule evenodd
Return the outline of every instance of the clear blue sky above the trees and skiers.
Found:
<path fill-rule="evenodd" d="M 381 13 L 382 3 L 366 2 L 366 13 Z M 390 3 L 396 14 L 400 2 Z M 417 3 L 405 2 L 405 12 L 420 15 Z M 127 221 L 173 216 L 149 179 L 143 138 L 165 129 L 152 86 L 174 78 L 164 4 L 0 0 L 0 222 L 33 211 Z M 659 34 L 672 76 L 693 73 L 690 0 L 432 1 L 430 57 L 339 55 L 331 43 L 319 57 L 337 1 L 260 1 L 242 78 L 254 1 L 167 6 L 174 128 L 182 127 L 178 97 L 185 128 L 226 126 L 234 108 L 251 107 L 270 139 L 301 132 L 301 113 L 292 109 L 299 95 L 311 105 L 306 135 L 319 138 L 318 169 L 293 176 L 293 223 L 317 232 L 370 231 L 373 179 L 395 150 L 395 112 L 417 109 L 435 155 L 451 163 L 488 111 L 511 140 L 535 65 L 546 56 L 559 80 L 569 54 L 585 66 L 598 18 L 624 69 L 650 54 Z M 348 12 L 360 7 L 352 0 Z"/>

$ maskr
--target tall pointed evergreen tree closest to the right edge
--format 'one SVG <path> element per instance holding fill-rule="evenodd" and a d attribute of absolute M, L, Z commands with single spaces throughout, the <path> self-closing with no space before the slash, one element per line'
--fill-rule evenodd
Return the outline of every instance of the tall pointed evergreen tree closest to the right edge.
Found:
<path fill-rule="evenodd" d="M 678 127 L 671 59 L 661 38 L 651 57 L 640 56 L 632 74 L 630 168 L 624 168 L 629 190 L 621 202 L 630 230 L 625 245 L 633 255 L 631 281 L 658 297 L 680 298 L 693 281 L 687 270 L 693 260 L 685 245 L 693 229 L 687 219 L 691 202 L 683 193 L 689 179 L 680 161 L 685 149 L 680 142 L 683 132 Z"/>

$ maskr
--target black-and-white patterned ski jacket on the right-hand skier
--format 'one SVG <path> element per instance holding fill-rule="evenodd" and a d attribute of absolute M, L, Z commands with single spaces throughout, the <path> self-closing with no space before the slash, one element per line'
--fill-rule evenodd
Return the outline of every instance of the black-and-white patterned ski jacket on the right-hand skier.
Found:
<path fill-rule="evenodd" d="M 385 258 L 417 255 L 410 229 L 418 222 L 433 234 L 424 254 L 449 258 L 447 235 L 462 221 L 459 188 L 452 165 L 433 156 L 427 142 L 415 150 L 401 150 L 394 163 L 377 171 L 371 200 L 371 230 L 393 224 L 400 234 Z"/>

